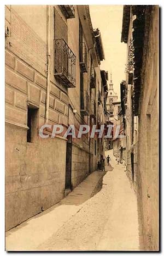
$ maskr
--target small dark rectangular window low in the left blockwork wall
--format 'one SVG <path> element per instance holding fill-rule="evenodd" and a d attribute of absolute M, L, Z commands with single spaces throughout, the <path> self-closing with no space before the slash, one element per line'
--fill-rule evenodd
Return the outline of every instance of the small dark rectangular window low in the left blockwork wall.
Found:
<path fill-rule="evenodd" d="M 33 142 L 34 138 L 37 136 L 37 114 L 38 109 L 28 106 L 27 109 L 27 142 Z"/>

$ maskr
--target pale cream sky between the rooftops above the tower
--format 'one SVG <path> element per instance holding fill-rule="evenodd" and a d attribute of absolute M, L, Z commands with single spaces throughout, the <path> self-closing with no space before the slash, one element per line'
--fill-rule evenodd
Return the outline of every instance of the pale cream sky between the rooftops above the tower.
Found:
<path fill-rule="evenodd" d="M 125 79 L 126 43 L 121 43 L 123 5 L 90 5 L 93 29 L 98 27 L 101 32 L 105 60 L 101 69 L 110 72 L 114 91 L 120 100 L 120 82 Z"/>

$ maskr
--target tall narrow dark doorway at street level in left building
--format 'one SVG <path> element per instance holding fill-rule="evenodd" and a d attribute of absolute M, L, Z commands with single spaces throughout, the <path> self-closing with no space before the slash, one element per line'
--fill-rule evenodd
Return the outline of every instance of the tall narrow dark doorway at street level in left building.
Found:
<path fill-rule="evenodd" d="M 72 162 L 72 137 L 67 137 L 67 147 L 66 147 L 66 180 L 65 189 L 72 189 L 71 186 L 71 162 Z"/>

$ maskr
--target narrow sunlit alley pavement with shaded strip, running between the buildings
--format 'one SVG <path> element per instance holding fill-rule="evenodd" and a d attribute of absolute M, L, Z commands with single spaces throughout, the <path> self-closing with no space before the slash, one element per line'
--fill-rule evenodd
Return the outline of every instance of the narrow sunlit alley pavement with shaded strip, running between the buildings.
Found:
<path fill-rule="evenodd" d="M 8 231 L 7 250 L 139 251 L 136 194 L 112 152 L 106 172 L 92 172 L 60 203 Z"/>

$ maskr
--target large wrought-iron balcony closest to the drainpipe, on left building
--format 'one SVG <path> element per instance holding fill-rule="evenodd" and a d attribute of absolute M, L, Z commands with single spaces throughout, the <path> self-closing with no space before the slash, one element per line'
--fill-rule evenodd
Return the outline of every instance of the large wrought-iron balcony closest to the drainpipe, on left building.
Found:
<path fill-rule="evenodd" d="M 76 57 L 63 39 L 55 40 L 55 78 L 66 87 L 75 87 Z"/>

